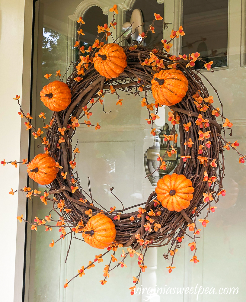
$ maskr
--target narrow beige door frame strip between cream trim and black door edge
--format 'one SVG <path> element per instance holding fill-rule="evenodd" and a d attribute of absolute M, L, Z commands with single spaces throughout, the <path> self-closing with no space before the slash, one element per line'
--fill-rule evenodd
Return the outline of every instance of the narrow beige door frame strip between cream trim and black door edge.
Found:
<path fill-rule="evenodd" d="M 30 112 L 32 31 L 33 31 L 32 24 L 33 24 L 34 1 L 24 0 L 23 2 L 24 2 L 24 19 L 22 25 L 24 28 L 24 44 L 23 44 L 23 53 L 20 54 L 20 56 L 23 57 L 21 106 L 24 112 Z M 13 89 L 14 89 L 14 82 L 13 82 Z M 13 114 L 15 114 L 15 112 Z M 27 158 L 28 149 L 29 149 L 29 131 L 26 131 L 24 122 L 21 123 L 20 142 L 16 142 L 16 143 L 20 143 L 20 159 Z M 19 188 L 23 188 L 26 185 L 27 185 L 26 166 L 20 165 Z M 23 192 L 19 192 L 18 194 L 18 216 L 23 214 L 23 216 L 25 217 L 27 211 L 27 199 L 25 195 L 26 194 L 24 194 Z M 16 230 L 17 236 L 16 236 L 16 258 L 15 258 L 15 276 L 14 276 L 14 302 L 22 302 L 22 296 L 23 296 L 24 265 L 25 265 L 24 263 L 25 233 L 26 233 L 25 223 L 18 223 L 17 230 Z"/>

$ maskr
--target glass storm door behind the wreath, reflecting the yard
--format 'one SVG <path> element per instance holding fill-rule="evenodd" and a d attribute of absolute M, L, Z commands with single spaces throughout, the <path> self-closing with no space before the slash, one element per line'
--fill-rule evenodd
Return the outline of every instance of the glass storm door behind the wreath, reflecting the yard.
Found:
<path fill-rule="evenodd" d="M 184 3 L 179 0 L 152 0 L 151 3 L 148 0 L 125 0 L 124 3 L 118 0 L 38 0 L 35 6 L 32 108 L 36 127 L 42 127 L 38 117 L 41 112 L 45 113 L 47 121 L 50 119 L 50 113 L 39 96 L 39 92 L 47 84 L 44 75 L 51 73 L 54 80 L 57 70 L 60 70 L 62 75 L 65 74 L 71 61 L 75 62 L 78 56 L 74 47 L 78 29 L 76 21 L 80 16 L 85 21 L 83 45 L 86 48 L 94 43 L 97 25 L 110 23 L 112 13 L 109 8 L 114 4 L 118 5 L 119 14 L 113 37 L 122 33 L 123 24 L 131 21 L 135 9 L 141 12 L 145 23 L 143 31 L 146 31 L 146 26 L 153 20 L 154 13 L 160 13 L 166 23 L 171 23 L 165 30 L 163 23 L 159 23 L 159 27 L 155 28 L 156 33 L 147 41 L 149 47 L 154 46 L 155 42 L 163 37 L 169 37 L 173 28 L 177 30 L 183 24 L 186 35 L 176 39 L 174 52 L 178 55 L 199 51 L 203 52 L 206 59 L 216 62 L 215 72 L 204 72 L 204 75 L 218 89 L 225 116 L 229 117 L 235 126 L 230 140 L 240 140 L 240 146 L 245 151 L 243 102 L 246 91 L 245 85 L 241 85 L 245 79 L 245 69 L 240 66 L 242 31 L 239 0 L 235 0 L 233 5 L 223 0 L 209 4 L 205 0 L 199 3 L 192 0 L 185 0 Z M 108 41 L 112 42 L 110 38 Z M 212 89 L 210 94 L 215 95 Z M 120 202 L 111 194 L 112 187 L 114 194 L 125 206 L 141 204 L 155 189 L 148 178 L 145 178 L 144 153 L 153 145 L 153 136 L 150 135 L 149 125 L 145 120 L 146 109 L 141 107 L 141 98 L 137 96 L 122 92 L 120 98 L 123 99 L 122 106 L 116 106 L 114 95 L 107 95 L 104 104 L 94 106 L 91 120 L 93 123 L 99 122 L 100 130 L 81 126 L 73 137 L 75 144 L 78 141 L 77 147 L 81 151 L 76 158 L 81 185 L 88 192 L 89 178 L 93 198 L 107 208 L 120 207 Z M 215 102 L 219 103 L 218 99 L 215 99 Z M 159 109 L 160 118 L 155 120 L 154 127 L 161 129 L 165 122 L 168 122 L 168 111 L 170 110 L 165 107 Z M 31 144 L 31 157 L 43 151 L 40 151 L 36 141 Z M 133 296 L 130 296 L 128 288 L 133 286 L 132 277 L 138 271 L 135 258 L 127 258 L 127 268 L 113 270 L 104 286 L 100 283 L 103 279 L 103 262 L 87 270 L 85 276 L 75 278 L 69 283 L 69 288 L 64 289 L 66 279 L 71 279 L 81 266 L 93 261 L 101 250 L 73 239 L 67 261 L 64 263 L 70 238 L 65 237 L 50 248 L 52 240 L 59 237 L 56 228 L 51 232 L 40 229 L 35 232 L 28 229 L 25 301 L 103 302 L 128 299 L 155 302 L 241 302 L 246 294 L 243 284 L 246 271 L 243 254 L 245 243 L 241 240 L 244 234 L 245 167 L 237 165 L 230 151 L 226 152 L 225 156 L 227 174 L 224 185 L 227 194 L 221 198 L 216 212 L 210 215 L 209 226 L 201 231 L 201 238 L 198 239 L 198 264 L 190 263 L 192 255 L 187 237 L 178 250 L 174 262 L 176 268 L 171 274 L 166 268 L 171 264 L 171 260 L 164 257 L 167 252 L 165 247 L 149 250 L 148 258 L 145 259 L 148 269 L 142 274 L 139 291 Z M 30 186 L 35 188 L 34 184 Z M 45 187 L 38 186 L 37 189 L 43 192 Z M 28 220 L 33 221 L 35 216 L 43 218 L 51 209 L 52 205 L 44 205 L 39 198 L 33 198 L 28 207 Z M 203 293 L 200 290 L 197 294 L 200 286 L 204 288 Z M 238 294 L 228 294 L 227 290 L 224 291 L 225 288 L 233 287 L 239 288 Z M 168 288 L 194 288 L 194 292 L 186 294 L 175 289 L 170 293 Z M 215 288 L 218 293 L 206 294 L 206 288 L 209 288 L 209 291 Z M 223 288 L 222 293 L 219 293 L 220 288 Z"/>

